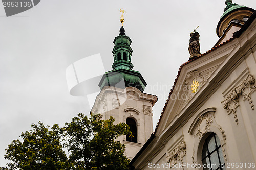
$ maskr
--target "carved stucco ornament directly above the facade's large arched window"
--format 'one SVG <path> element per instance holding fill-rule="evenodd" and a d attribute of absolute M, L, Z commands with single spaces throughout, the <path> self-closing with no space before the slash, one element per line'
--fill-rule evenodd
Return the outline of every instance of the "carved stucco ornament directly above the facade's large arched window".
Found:
<path fill-rule="evenodd" d="M 201 138 L 205 133 L 207 133 L 210 129 L 210 125 L 214 122 L 214 118 L 214 113 L 204 114 L 200 116 L 197 120 L 197 130 L 194 137 L 198 136 L 199 138 Z M 206 124 L 201 126 L 203 120 L 206 120 Z"/>

